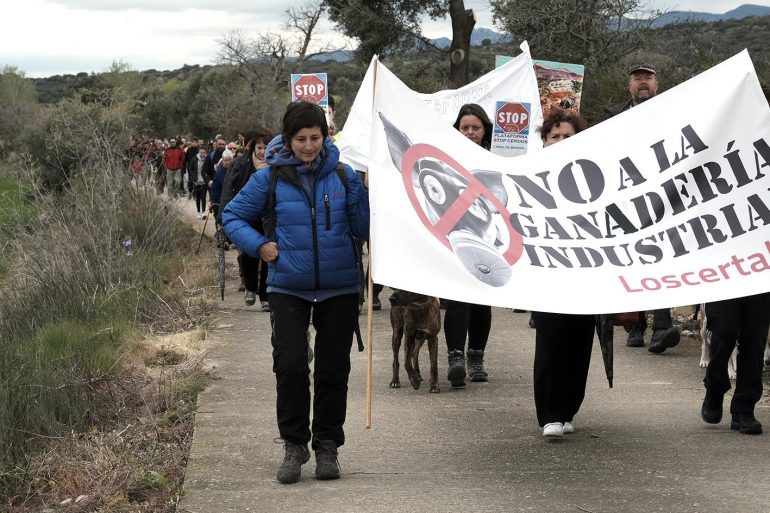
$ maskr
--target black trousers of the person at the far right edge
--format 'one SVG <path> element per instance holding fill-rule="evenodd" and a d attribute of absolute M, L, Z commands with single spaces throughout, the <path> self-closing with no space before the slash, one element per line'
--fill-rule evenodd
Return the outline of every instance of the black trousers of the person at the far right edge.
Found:
<path fill-rule="evenodd" d="M 727 361 L 738 344 L 738 377 L 730 413 L 753 413 L 762 397 L 762 366 L 770 326 L 770 292 L 706 304 L 711 359 L 703 384 L 710 393 L 730 390 Z"/>

